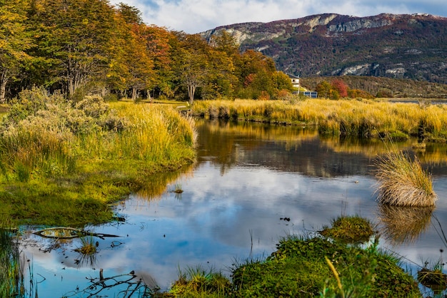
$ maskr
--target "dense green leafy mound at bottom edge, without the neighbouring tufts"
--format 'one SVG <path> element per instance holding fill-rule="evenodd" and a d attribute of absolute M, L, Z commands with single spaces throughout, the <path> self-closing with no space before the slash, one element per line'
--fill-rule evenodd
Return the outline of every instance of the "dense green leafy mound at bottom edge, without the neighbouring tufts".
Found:
<path fill-rule="evenodd" d="M 232 277 L 236 297 L 421 296 L 417 282 L 392 255 L 318 237 L 281 240 L 271 257 L 238 265 Z"/>

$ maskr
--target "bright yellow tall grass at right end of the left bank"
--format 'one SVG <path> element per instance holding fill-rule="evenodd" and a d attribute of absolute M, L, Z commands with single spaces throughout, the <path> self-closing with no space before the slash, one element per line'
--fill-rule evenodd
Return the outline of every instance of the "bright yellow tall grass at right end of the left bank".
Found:
<path fill-rule="evenodd" d="M 191 118 L 181 117 L 168 106 L 112 106 L 118 117 L 126 119 L 126 128 L 83 135 L 76 143 L 79 155 L 160 164 L 194 158 L 196 131 Z"/>

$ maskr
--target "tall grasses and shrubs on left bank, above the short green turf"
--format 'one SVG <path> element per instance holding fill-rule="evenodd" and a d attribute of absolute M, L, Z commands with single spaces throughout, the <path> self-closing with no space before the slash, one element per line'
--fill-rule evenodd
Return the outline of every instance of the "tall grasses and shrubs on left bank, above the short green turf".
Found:
<path fill-rule="evenodd" d="M 184 163 L 194 158 L 195 138 L 193 120 L 169 106 L 109 106 L 98 96 L 75 105 L 37 89 L 3 121 L 0 169 L 7 179 L 28 181 L 73 173 L 80 161 Z"/>

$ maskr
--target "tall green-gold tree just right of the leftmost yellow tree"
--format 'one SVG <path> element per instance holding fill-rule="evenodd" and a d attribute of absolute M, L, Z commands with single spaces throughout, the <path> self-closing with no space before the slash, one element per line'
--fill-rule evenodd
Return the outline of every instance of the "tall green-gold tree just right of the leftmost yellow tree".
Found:
<path fill-rule="evenodd" d="M 41 54 L 51 58 L 54 81 L 73 96 L 104 80 L 114 9 L 106 0 L 41 0 L 33 14 Z"/>

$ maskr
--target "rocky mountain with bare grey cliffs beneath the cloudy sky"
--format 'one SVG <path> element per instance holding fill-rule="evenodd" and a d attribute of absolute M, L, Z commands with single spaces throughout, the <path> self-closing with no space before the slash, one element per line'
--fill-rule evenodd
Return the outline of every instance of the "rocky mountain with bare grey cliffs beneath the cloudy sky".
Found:
<path fill-rule="evenodd" d="M 428 14 L 318 14 L 221 26 L 241 45 L 299 76 L 385 76 L 447 83 L 447 18 Z"/>

